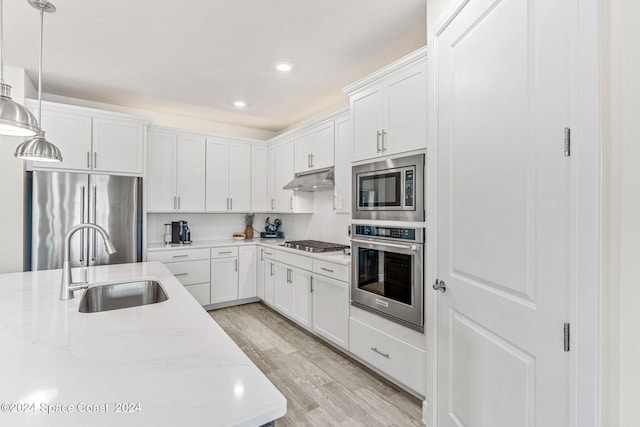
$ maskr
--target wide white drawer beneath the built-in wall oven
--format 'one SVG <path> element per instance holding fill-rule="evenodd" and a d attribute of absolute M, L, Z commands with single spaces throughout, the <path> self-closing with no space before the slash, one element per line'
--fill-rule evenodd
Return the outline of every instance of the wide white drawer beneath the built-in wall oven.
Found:
<path fill-rule="evenodd" d="M 391 335 L 349 319 L 349 351 L 407 387 L 424 394 L 426 353 Z"/>

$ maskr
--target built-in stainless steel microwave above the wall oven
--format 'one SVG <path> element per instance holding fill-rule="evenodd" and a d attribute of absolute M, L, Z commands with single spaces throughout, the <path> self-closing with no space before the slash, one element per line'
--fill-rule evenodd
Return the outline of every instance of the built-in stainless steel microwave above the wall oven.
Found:
<path fill-rule="evenodd" d="M 354 219 L 424 221 L 424 154 L 353 167 Z"/>

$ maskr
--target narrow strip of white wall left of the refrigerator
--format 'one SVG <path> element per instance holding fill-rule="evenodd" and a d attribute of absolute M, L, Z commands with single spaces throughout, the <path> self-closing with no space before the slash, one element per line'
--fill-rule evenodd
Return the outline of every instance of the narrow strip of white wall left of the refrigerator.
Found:
<path fill-rule="evenodd" d="M 5 67 L 4 80 L 12 87 L 13 100 L 22 104 L 25 90 L 30 89 L 24 70 Z M 13 156 L 22 141 L 23 138 L 0 135 L 0 273 L 22 271 L 24 162 Z"/>

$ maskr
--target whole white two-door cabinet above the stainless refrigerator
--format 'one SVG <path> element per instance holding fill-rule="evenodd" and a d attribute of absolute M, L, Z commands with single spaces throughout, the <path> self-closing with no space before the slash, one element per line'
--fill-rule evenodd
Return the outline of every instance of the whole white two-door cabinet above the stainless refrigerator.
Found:
<path fill-rule="evenodd" d="M 27 101 L 32 111 L 37 102 Z M 93 108 L 42 102 L 41 126 L 63 161 L 32 162 L 34 169 L 142 175 L 148 120 Z"/>

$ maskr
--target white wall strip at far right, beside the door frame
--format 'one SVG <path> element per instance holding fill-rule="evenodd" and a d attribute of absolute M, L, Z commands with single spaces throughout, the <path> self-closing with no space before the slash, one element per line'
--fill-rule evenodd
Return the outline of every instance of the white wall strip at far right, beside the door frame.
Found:
<path fill-rule="evenodd" d="M 640 2 L 603 1 L 602 426 L 640 425 Z"/>

